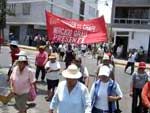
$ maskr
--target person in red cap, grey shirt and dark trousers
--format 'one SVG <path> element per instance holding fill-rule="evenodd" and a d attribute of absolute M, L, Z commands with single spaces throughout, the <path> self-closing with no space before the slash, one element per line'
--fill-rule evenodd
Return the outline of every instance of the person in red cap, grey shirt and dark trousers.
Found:
<path fill-rule="evenodd" d="M 146 63 L 140 62 L 138 70 L 132 75 L 130 96 L 132 97 L 132 113 L 146 113 L 147 109 L 142 105 L 141 92 L 148 81 L 148 74 L 145 71 Z"/>

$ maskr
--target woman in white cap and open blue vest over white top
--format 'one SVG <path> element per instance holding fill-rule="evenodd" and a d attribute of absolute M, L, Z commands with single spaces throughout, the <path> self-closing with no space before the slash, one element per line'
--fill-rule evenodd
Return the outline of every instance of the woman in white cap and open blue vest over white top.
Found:
<path fill-rule="evenodd" d="M 119 85 L 110 79 L 109 75 L 109 67 L 102 66 L 98 73 L 99 79 L 92 85 L 90 91 L 92 113 L 114 113 L 115 101 L 123 96 Z"/>

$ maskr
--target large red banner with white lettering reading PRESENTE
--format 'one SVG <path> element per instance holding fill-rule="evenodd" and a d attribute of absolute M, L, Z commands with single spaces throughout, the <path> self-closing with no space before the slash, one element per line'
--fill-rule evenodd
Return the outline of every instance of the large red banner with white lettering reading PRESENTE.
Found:
<path fill-rule="evenodd" d="M 46 13 L 47 33 L 50 41 L 66 43 L 99 43 L 107 41 L 107 30 L 103 16 L 78 21 Z"/>

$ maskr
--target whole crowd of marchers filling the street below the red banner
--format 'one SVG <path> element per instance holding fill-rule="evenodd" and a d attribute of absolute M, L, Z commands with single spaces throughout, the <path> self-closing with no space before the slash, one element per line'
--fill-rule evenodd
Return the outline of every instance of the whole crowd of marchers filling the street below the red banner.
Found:
<path fill-rule="evenodd" d="M 91 49 L 92 48 L 92 49 Z M 15 41 L 10 43 L 12 66 L 8 81 L 15 97 L 19 113 L 27 113 L 26 103 L 31 87 L 38 94 L 40 71 L 41 82 L 47 82 L 45 100 L 50 102 L 49 113 L 121 113 L 119 100 L 123 98 L 120 85 L 115 80 L 115 63 L 112 50 L 104 45 L 95 49 L 88 45 L 47 43 L 38 47 L 35 58 L 36 70 L 30 67 L 28 55 L 21 51 Z M 96 51 L 95 51 L 96 50 Z M 89 72 L 82 57 L 92 54 L 97 58 L 95 80 L 89 89 Z M 131 113 L 148 113 L 150 109 L 150 74 L 146 63 L 139 62 L 134 71 L 136 53 L 131 52 L 124 71 L 131 66 L 130 96 Z M 60 62 L 65 62 L 63 69 Z M 60 81 L 60 78 L 63 80 Z"/>

